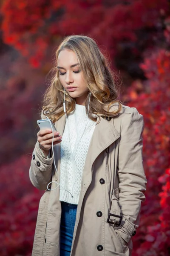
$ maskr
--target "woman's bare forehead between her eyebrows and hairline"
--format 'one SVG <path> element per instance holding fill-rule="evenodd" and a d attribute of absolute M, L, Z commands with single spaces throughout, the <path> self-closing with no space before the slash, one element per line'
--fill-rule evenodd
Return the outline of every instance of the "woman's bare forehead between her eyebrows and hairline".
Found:
<path fill-rule="evenodd" d="M 68 49 L 62 50 L 58 55 L 57 66 L 70 67 L 78 62 L 77 55 Z"/>

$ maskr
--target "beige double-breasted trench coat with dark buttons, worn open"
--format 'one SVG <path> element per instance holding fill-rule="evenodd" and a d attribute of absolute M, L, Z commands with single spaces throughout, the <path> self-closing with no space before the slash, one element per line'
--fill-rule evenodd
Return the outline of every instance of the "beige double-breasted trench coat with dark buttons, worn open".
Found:
<path fill-rule="evenodd" d="M 56 122 L 61 135 L 64 126 L 62 116 Z M 143 116 L 127 106 L 110 121 L 100 118 L 96 124 L 82 175 L 71 256 L 131 255 L 131 238 L 139 225 L 146 189 L 143 128 Z M 59 172 L 60 144 L 54 146 L 54 156 Z M 59 182 L 53 157 L 42 157 L 38 143 L 29 175 L 31 183 L 41 190 L 51 180 Z M 55 186 L 52 183 L 51 189 Z M 100 217 L 96 214 L 99 211 Z M 40 200 L 32 256 L 59 256 L 60 219 L 59 187 L 46 190 Z"/>

